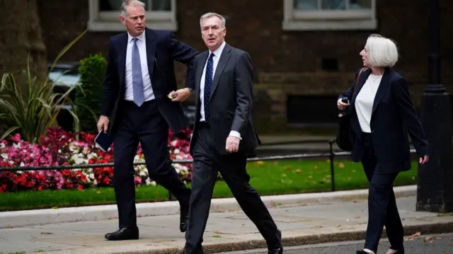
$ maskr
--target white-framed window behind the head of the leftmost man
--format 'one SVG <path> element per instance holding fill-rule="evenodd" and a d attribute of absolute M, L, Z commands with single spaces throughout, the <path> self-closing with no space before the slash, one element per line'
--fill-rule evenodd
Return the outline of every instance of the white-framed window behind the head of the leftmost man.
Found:
<path fill-rule="evenodd" d="M 123 0 L 88 0 L 88 30 L 124 31 L 119 20 Z M 176 0 L 142 0 L 147 11 L 147 26 L 176 31 Z"/>

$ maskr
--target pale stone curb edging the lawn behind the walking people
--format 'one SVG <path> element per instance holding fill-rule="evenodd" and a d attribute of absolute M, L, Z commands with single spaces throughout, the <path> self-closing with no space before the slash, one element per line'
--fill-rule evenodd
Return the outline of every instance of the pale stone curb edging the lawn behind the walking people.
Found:
<path fill-rule="evenodd" d="M 394 187 L 396 197 L 415 196 L 417 185 Z M 320 202 L 363 200 L 368 197 L 368 189 L 336 192 L 316 192 L 292 195 L 263 196 L 261 199 L 268 208 L 307 205 Z M 137 217 L 151 217 L 179 214 L 177 201 L 138 203 Z M 210 212 L 231 212 L 240 210 L 236 200 L 231 198 L 212 199 Z M 14 212 L 0 212 L 0 229 L 58 224 L 76 221 L 100 221 L 117 219 L 115 204 L 91 207 L 67 207 L 60 209 L 36 209 Z"/>

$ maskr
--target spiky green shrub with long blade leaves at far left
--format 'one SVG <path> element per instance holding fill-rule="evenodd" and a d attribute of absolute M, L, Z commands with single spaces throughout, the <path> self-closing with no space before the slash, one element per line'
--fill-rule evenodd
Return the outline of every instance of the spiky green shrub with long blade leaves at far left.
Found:
<path fill-rule="evenodd" d="M 55 63 L 69 48 L 78 42 L 86 33 L 81 33 L 58 54 Z M 11 73 L 5 73 L 0 81 L 0 122 L 6 127 L 6 132 L 0 137 L 4 139 L 10 134 L 19 133 L 21 138 L 30 143 L 38 143 L 47 129 L 57 122 L 61 108 L 59 104 L 67 103 L 74 108 L 69 93 L 77 86 L 69 88 L 65 93 L 56 93 L 55 84 L 48 76 L 38 79 L 30 72 L 30 54 L 27 69 L 21 71 L 23 79 L 16 79 Z M 74 110 L 68 110 L 74 118 L 74 125 L 79 129 L 79 118 Z"/>

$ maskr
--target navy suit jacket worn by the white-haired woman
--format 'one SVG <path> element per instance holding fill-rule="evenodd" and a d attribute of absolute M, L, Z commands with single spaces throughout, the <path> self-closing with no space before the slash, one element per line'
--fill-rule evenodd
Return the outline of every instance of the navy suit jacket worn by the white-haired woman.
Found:
<path fill-rule="evenodd" d="M 357 79 L 359 71 L 355 74 Z M 357 118 L 355 98 L 362 89 L 371 69 L 362 72 L 354 94 L 354 83 L 343 95 L 350 100 L 348 114 L 352 128 L 352 161 L 358 162 L 363 156 L 362 129 Z M 382 170 L 389 173 L 411 169 L 411 154 L 408 133 L 418 156 L 429 155 L 429 146 L 418 115 L 413 108 L 406 80 L 396 71 L 386 68 L 374 98 L 371 118 L 372 141 L 377 162 Z"/>

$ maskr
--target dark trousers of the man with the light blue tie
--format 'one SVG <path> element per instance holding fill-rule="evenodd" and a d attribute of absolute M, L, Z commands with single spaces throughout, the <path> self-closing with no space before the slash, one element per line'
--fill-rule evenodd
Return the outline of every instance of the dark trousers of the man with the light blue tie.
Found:
<path fill-rule="evenodd" d="M 171 166 L 168 153 L 168 124 L 159 112 L 155 100 L 147 101 L 141 107 L 125 100 L 119 113 L 114 139 L 113 186 L 120 229 L 137 226 L 132 164 L 139 142 L 147 163 L 149 178 L 171 192 L 181 207 L 188 207 L 190 189 Z"/>

